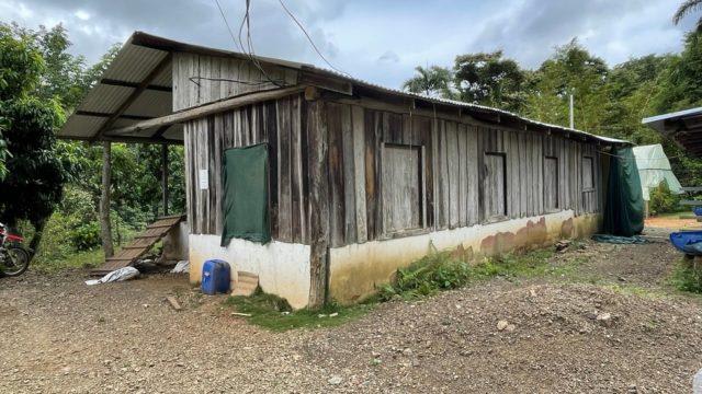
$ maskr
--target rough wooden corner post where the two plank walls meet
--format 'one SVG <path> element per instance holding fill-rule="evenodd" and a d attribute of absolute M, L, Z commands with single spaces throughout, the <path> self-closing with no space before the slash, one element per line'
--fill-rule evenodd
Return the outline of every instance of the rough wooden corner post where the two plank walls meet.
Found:
<path fill-rule="evenodd" d="M 327 121 L 325 102 L 307 105 L 307 141 L 309 164 L 309 304 L 325 304 L 329 287 L 329 174 L 327 173 Z"/>

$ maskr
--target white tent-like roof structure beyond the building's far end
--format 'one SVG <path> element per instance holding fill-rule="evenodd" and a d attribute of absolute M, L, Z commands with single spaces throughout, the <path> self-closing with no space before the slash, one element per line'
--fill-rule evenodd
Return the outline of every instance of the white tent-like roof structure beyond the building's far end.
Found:
<path fill-rule="evenodd" d="M 658 187 L 664 181 L 673 194 L 683 193 L 682 186 L 676 174 L 672 173 L 668 157 L 660 143 L 635 147 L 634 157 L 636 158 L 636 166 L 641 176 L 644 200 L 648 201 L 650 199 L 649 192 Z"/>

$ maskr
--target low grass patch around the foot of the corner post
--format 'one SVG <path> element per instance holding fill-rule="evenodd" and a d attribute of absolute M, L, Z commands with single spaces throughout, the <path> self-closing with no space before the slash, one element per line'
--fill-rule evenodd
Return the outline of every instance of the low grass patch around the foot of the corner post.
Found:
<path fill-rule="evenodd" d="M 272 332 L 338 326 L 365 315 L 375 306 L 374 302 L 351 306 L 331 303 L 318 311 L 307 309 L 293 311 L 285 299 L 267 294 L 260 289 L 251 297 L 229 297 L 224 304 L 234 308 L 237 312 L 251 314 L 250 317 L 246 317 L 249 323 Z"/>

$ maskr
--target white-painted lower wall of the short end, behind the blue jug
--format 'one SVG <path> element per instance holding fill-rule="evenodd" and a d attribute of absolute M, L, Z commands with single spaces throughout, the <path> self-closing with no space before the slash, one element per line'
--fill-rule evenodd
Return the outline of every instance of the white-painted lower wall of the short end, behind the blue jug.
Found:
<path fill-rule="evenodd" d="M 280 296 L 295 308 L 305 308 L 309 298 L 309 245 L 271 241 L 259 243 L 233 239 L 227 247 L 219 246 L 219 235 L 190 234 L 190 281 L 200 282 L 202 265 L 212 258 L 231 266 L 233 286 L 236 273 L 259 276 L 263 291 Z"/>

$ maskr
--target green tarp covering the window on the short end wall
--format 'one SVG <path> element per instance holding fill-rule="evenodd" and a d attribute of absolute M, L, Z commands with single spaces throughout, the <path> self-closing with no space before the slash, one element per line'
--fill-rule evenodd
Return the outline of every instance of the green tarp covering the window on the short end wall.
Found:
<path fill-rule="evenodd" d="M 222 246 L 233 237 L 271 241 L 268 210 L 268 146 L 227 149 L 222 162 Z"/>

